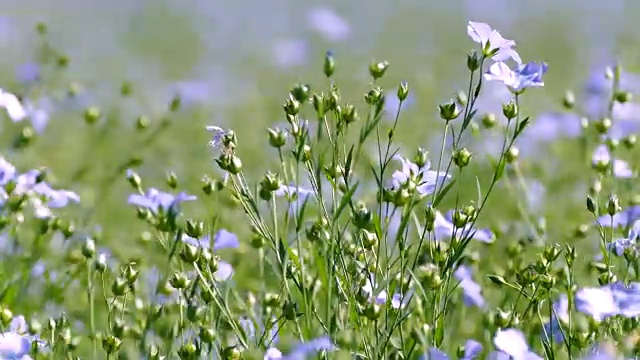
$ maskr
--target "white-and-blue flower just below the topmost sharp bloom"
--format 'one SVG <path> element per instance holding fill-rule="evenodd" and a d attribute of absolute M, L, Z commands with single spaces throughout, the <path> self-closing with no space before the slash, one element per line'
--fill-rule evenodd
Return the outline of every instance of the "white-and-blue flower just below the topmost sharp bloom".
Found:
<path fill-rule="evenodd" d="M 513 93 L 520 93 L 530 87 L 542 87 L 542 75 L 547 72 L 547 64 L 532 61 L 528 64 L 518 65 L 515 70 L 511 70 L 507 64 L 497 62 L 489 68 L 489 72 L 484 74 L 487 81 L 501 81 Z"/>

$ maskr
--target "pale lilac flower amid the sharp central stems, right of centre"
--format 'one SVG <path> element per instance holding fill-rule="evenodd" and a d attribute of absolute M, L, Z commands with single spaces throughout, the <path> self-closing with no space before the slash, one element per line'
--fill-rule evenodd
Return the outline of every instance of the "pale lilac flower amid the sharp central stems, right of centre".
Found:
<path fill-rule="evenodd" d="M 430 162 L 420 168 L 400 155 L 396 155 L 393 158 L 402 163 L 402 170 L 396 170 L 391 175 L 393 189 L 398 189 L 406 184 L 407 181 L 414 180 L 417 183 L 417 192 L 421 195 L 429 195 L 435 191 L 437 185 L 451 178 L 451 175 L 444 172 L 429 170 L 431 168 Z"/>

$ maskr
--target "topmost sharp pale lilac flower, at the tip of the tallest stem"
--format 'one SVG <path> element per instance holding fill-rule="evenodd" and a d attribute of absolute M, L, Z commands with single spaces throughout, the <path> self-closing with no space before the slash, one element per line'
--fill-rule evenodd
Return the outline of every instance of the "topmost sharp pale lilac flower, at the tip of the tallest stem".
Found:
<path fill-rule="evenodd" d="M 467 24 L 467 34 L 473 41 L 482 46 L 482 52 L 486 56 L 492 56 L 494 61 L 506 61 L 513 59 L 516 63 L 521 64 L 522 59 L 516 52 L 516 42 L 507 40 L 500 33 L 491 28 L 491 26 L 481 23 L 469 21 Z"/>

